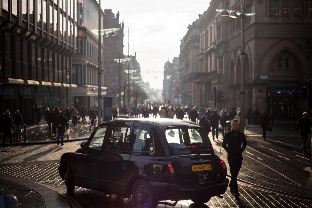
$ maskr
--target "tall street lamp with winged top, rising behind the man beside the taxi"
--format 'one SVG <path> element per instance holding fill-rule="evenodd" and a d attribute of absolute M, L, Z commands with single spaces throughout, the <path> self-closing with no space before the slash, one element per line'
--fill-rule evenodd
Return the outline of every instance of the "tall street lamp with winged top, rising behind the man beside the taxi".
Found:
<path fill-rule="evenodd" d="M 244 12 L 244 4 L 241 4 L 241 11 L 236 11 L 232 9 L 216 9 L 217 12 L 221 12 L 221 16 L 223 17 L 232 17 L 237 18 L 238 16 L 241 17 L 241 51 L 239 54 L 241 55 L 241 131 L 245 132 L 245 17 L 246 16 L 253 16 L 256 13 L 245 13 Z M 229 15 L 230 13 L 230 15 Z"/>

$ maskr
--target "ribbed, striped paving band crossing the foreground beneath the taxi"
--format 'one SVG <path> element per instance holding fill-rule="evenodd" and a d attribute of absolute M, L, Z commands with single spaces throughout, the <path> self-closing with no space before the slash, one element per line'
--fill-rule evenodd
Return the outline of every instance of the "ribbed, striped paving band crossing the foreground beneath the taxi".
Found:
<path fill-rule="evenodd" d="M 55 162 L 4 166 L 0 168 L 0 175 L 35 181 L 67 196 L 64 181 L 58 174 L 58 165 L 58 162 Z M 212 197 L 206 206 L 195 206 L 192 201 L 186 200 L 179 201 L 175 207 L 312 207 L 311 200 L 281 194 L 243 182 L 239 182 L 239 189 L 241 190 L 239 199 L 235 199 L 227 190 L 223 199 Z M 71 207 L 133 207 L 131 198 L 122 198 L 77 186 L 75 195 L 67 196 L 67 198 Z M 21 207 L 23 207 L 22 204 Z"/>

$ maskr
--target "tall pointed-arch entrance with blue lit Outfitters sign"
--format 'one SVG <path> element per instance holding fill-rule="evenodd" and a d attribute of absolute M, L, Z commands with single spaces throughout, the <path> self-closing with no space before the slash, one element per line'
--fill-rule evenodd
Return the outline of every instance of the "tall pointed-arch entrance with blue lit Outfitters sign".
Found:
<path fill-rule="evenodd" d="M 268 69 L 266 107 L 272 118 L 296 120 L 300 114 L 302 66 L 295 54 L 285 48 L 278 52 Z"/>

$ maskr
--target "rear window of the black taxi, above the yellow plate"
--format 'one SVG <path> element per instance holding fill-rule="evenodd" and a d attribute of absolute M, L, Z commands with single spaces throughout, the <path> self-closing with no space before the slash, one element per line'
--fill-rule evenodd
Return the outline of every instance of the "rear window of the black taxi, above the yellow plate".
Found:
<path fill-rule="evenodd" d="M 166 128 L 165 136 L 169 148 L 173 150 L 202 150 L 210 149 L 210 140 L 201 129 L 178 127 Z"/>

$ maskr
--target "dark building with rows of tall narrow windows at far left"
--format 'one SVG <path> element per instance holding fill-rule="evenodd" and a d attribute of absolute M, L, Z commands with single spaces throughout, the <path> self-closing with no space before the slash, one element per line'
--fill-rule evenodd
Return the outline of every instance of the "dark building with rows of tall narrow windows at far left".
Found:
<path fill-rule="evenodd" d="M 1 0 L 1 115 L 19 110 L 24 123 L 32 124 L 39 105 L 43 111 L 73 105 L 76 4 L 76 0 Z"/>

